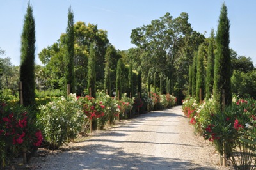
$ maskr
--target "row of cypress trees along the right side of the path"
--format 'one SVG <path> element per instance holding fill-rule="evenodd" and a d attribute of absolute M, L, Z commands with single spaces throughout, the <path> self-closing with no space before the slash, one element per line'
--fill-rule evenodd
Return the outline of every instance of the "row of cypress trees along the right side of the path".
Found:
<path fill-rule="evenodd" d="M 218 20 L 216 40 L 214 40 L 213 30 L 211 31 L 211 38 L 209 38 L 206 72 L 204 68 L 203 45 L 200 45 L 198 52 L 195 53 L 193 65 L 189 66 L 188 95 L 192 95 L 199 102 L 200 89 L 202 89 L 202 99 L 207 100 L 213 94 L 216 100 L 215 109 L 217 112 L 222 110 L 223 94 L 225 94 L 225 104 L 229 105 L 232 102 L 230 81 L 232 71 L 229 48 L 230 22 L 227 14 L 227 6 L 223 3 Z M 215 54 L 214 43 L 216 43 Z"/>

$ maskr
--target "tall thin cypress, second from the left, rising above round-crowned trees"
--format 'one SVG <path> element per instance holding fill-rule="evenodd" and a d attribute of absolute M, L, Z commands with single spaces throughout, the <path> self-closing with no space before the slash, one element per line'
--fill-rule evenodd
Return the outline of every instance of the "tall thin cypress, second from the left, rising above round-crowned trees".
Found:
<path fill-rule="evenodd" d="M 66 45 L 66 58 L 65 58 L 65 95 L 67 95 L 67 84 L 70 84 L 70 93 L 75 91 L 75 75 L 74 75 L 74 13 L 71 7 L 68 8 L 68 25 L 66 29 L 65 45 Z"/>

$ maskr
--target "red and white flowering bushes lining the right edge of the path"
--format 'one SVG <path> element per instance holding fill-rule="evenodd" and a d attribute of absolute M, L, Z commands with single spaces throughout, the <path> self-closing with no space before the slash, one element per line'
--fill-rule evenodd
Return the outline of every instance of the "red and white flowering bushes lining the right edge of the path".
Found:
<path fill-rule="evenodd" d="M 193 98 L 183 101 L 183 111 L 204 139 L 230 159 L 236 169 L 256 167 L 256 101 L 233 98 L 223 112 L 214 110 L 214 100 L 201 105 Z"/>

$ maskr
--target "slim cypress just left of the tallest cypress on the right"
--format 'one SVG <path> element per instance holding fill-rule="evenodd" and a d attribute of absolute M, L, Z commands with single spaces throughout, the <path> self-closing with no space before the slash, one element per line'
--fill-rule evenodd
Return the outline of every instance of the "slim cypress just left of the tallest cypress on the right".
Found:
<path fill-rule="evenodd" d="M 208 46 L 207 72 L 206 72 L 206 94 L 205 98 L 211 98 L 214 82 L 214 30 L 211 31 L 211 38 Z"/>

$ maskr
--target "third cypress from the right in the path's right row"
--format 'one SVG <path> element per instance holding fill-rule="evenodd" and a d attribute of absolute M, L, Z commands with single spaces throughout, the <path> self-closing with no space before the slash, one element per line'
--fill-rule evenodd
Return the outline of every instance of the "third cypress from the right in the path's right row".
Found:
<path fill-rule="evenodd" d="M 202 89 L 202 100 L 204 100 L 204 46 L 200 45 L 196 62 L 196 101 L 200 100 L 200 89 Z"/>

